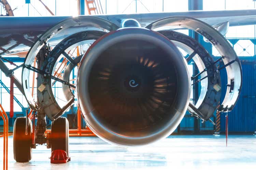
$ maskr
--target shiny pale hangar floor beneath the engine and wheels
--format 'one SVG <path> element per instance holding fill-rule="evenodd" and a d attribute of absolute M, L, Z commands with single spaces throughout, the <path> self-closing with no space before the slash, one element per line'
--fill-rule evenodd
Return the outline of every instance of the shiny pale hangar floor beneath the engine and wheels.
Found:
<path fill-rule="evenodd" d="M 0 139 L 2 145 L 3 138 Z M 225 145 L 224 135 L 172 135 L 151 145 L 136 148 L 116 147 L 97 137 L 71 137 L 71 162 L 56 165 L 50 164 L 50 150 L 45 146 L 33 150 L 33 158 L 29 163 L 16 163 L 13 159 L 12 137 L 9 137 L 9 169 L 256 169 L 255 136 L 229 135 L 228 147 Z M 2 161 L 0 154 L 1 164 Z"/>

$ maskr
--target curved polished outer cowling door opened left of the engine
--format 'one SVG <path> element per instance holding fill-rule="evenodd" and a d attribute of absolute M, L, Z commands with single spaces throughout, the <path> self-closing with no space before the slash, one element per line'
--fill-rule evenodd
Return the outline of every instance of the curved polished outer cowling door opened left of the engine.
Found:
<path fill-rule="evenodd" d="M 71 28 L 71 29 L 70 29 Z M 65 35 L 64 38 L 69 36 L 70 34 L 75 34 L 77 32 L 80 32 L 80 30 L 86 31 L 86 30 L 98 30 L 101 32 L 109 32 L 118 29 L 115 24 L 109 22 L 108 20 L 104 20 L 101 18 L 97 17 L 91 17 L 91 16 L 79 16 L 79 17 L 74 17 L 74 18 L 68 18 L 54 27 L 48 29 L 44 34 L 42 34 L 39 39 L 34 43 L 34 45 L 31 47 L 29 50 L 26 59 L 25 59 L 25 66 L 30 66 L 32 65 L 34 58 L 38 54 L 39 50 L 43 47 L 44 44 L 48 44 L 49 40 L 52 40 L 55 38 L 55 36 L 58 35 Z M 85 35 L 86 37 L 87 35 Z M 101 36 L 101 35 L 100 35 Z M 90 38 L 89 38 L 90 39 Z M 59 43 L 59 40 L 62 39 L 57 39 L 55 43 Z M 73 44 L 71 44 L 73 45 Z M 55 57 L 55 56 L 54 56 Z M 57 56 L 58 57 L 58 56 Z M 53 63 L 55 64 L 55 63 Z M 30 86 L 29 86 L 29 75 L 30 75 L 30 70 L 26 67 L 23 67 L 22 71 L 22 84 L 23 84 L 23 90 L 25 97 L 30 105 L 31 108 L 37 107 L 37 104 L 35 103 L 31 92 L 30 92 Z M 49 72 L 51 73 L 51 72 Z M 43 79 L 42 77 L 39 77 L 40 79 Z M 38 80 L 38 82 L 44 82 L 43 80 Z M 47 91 L 51 89 L 49 85 L 46 85 Z M 42 92 L 38 91 L 38 97 L 39 99 L 43 97 L 46 97 L 45 95 L 48 95 L 46 98 L 51 98 L 51 94 L 45 93 L 42 95 Z M 42 97 L 40 97 L 42 96 Z M 41 100 L 42 101 L 42 100 Z M 51 119 L 53 115 L 57 114 L 60 111 L 60 107 L 56 102 L 54 102 L 55 99 L 52 100 L 47 100 L 45 101 L 41 106 L 43 107 L 45 113 L 48 113 L 47 116 Z"/>

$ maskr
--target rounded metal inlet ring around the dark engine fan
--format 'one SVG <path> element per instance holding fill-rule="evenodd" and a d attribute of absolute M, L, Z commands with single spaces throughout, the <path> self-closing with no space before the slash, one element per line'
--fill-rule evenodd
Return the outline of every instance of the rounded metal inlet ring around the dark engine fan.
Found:
<path fill-rule="evenodd" d="M 130 39 L 150 41 L 152 44 L 155 44 L 156 46 L 165 49 L 169 56 L 174 56 L 172 60 L 177 63 L 177 65 L 179 65 L 179 75 L 181 77 L 183 75 L 187 75 L 184 76 L 183 79 L 181 79 L 179 82 L 181 89 L 179 91 L 179 95 L 181 97 L 178 96 L 177 102 L 175 102 L 175 114 L 173 118 L 171 120 L 168 120 L 168 124 L 166 124 L 158 132 L 148 134 L 147 136 L 130 137 L 111 131 L 104 125 L 100 124 L 100 122 L 96 119 L 94 115 L 94 109 L 90 103 L 90 100 L 88 99 L 89 92 L 88 84 L 86 82 L 88 82 L 90 70 L 95 63 L 97 57 L 100 55 L 101 52 L 106 50 L 106 48 L 110 47 L 111 45 Z M 166 37 L 154 31 L 141 28 L 128 28 L 115 32 L 110 32 L 104 35 L 99 40 L 96 40 L 95 43 L 91 45 L 90 49 L 87 50 L 86 54 L 84 54 L 82 62 L 79 66 L 79 73 L 77 75 L 78 103 L 80 105 L 82 114 L 87 122 L 87 125 L 97 136 L 118 146 L 146 145 L 158 139 L 169 136 L 182 120 L 189 103 L 190 81 L 186 65 L 187 64 L 184 58 L 181 56 L 181 53 L 173 45 L 173 43 L 171 43 L 171 41 Z"/>

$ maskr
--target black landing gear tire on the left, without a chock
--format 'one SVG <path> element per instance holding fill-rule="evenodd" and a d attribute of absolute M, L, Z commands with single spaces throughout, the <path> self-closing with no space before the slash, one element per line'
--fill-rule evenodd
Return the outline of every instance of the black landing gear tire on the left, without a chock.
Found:
<path fill-rule="evenodd" d="M 13 129 L 13 155 L 16 162 L 29 162 L 32 158 L 32 122 L 28 120 L 28 134 L 26 131 L 26 117 L 18 117 Z"/>

